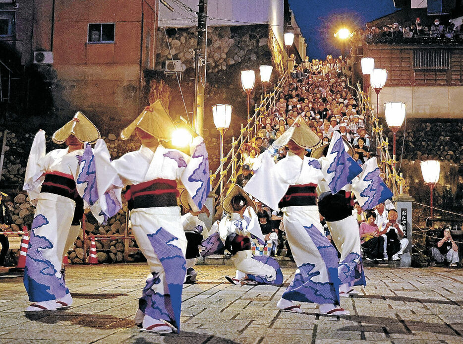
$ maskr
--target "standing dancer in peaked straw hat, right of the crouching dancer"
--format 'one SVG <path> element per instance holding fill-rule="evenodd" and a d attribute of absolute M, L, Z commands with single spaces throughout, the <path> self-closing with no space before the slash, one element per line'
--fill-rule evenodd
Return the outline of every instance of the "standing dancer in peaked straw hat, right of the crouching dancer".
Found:
<path fill-rule="evenodd" d="M 348 315 L 339 306 L 336 249 L 320 224 L 316 188 L 324 175 L 319 161 L 305 156 L 305 149 L 319 143 L 320 138 L 298 116 L 273 143 L 274 148 L 287 146 L 287 157 L 275 165 L 269 155 L 262 154 L 262 160 L 254 167 L 257 171 L 244 190 L 272 209 L 283 211 L 283 225 L 298 269 L 277 308 L 301 313 L 300 305 L 293 301 L 313 302 L 319 304 L 320 314 Z M 266 185 L 268 180 L 272 180 L 272 189 Z"/>

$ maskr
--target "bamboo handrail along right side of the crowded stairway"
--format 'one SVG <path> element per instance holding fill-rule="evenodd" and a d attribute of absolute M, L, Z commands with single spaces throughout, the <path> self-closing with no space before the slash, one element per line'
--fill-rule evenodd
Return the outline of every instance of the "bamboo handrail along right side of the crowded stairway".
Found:
<path fill-rule="evenodd" d="M 370 146 L 373 142 L 376 147 L 376 159 L 378 167 L 386 174 L 388 187 L 394 193 L 394 196 L 403 193 L 404 178 L 402 173 L 397 174 L 394 167 L 394 161 L 389 154 L 389 140 L 384 138 L 383 124 L 380 124 L 378 116 L 373 112 L 368 95 L 362 91 L 360 84 L 357 82 L 357 88 L 350 86 L 357 94 L 357 105 L 360 113 L 365 117 L 365 123 L 369 123 Z"/>

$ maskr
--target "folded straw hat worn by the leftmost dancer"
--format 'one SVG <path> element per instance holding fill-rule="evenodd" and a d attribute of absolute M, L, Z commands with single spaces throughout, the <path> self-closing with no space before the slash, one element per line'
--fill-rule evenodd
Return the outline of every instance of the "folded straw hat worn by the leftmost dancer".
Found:
<path fill-rule="evenodd" d="M 74 135 L 82 143 L 94 143 L 101 137 L 95 124 L 80 111 L 70 121 L 55 131 L 52 140 L 55 143 L 61 144 L 71 135 Z"/>

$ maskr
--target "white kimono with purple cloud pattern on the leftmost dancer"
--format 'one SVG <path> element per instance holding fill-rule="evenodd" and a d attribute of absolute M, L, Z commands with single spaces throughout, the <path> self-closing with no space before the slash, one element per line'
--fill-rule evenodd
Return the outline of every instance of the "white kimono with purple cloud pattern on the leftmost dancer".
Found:
<path fill-rule="evenodd" d="M 24 268 L 24 286 L 30 301 L 54 300 L 69 293 L 60 272 L 62 257 L 80 229 L 80 225 L 71 226 L 76 207 L 73 199 L 41 192 L 45 174 L 75 180 L 79 194 L 76 197 L 82 197 L 83 206 L 90 206 L 95 217 L 102 221 L 104 214 L 97 202 L 95 165 L 90 163 L 92 157 L 89 144 L 85 149 L 71 153 L 68 149 L 56 149 L 45 154 L 45 132 L 39 131 L 34 138 L 23 186 L 31 202 L 37 206 Z M 119 209 L 120 204 L 113 210 L 117 212 Z"/>

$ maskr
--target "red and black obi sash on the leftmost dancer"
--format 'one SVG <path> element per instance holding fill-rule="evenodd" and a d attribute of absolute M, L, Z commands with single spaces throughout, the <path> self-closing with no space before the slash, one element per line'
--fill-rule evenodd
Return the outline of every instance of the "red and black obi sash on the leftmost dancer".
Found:
<path fill-rule="evenodd" d="M 62 172 L 47 172 L 45 180 L 42 183 L 40 192 L 53 193 L 72 199 L 75 202 L 74 217 L 72 226 L 79 225 L 82 216 L 84 215 L 84 201 L 77 192 L 75 180 L 70 174 Z"/>

